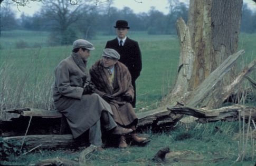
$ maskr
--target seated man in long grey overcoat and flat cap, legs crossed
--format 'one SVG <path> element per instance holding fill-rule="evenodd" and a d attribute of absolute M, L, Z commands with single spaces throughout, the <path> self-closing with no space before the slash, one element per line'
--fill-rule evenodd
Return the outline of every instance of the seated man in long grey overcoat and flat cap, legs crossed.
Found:
<path fill-rule="evenodd" d="M 75 40 L 71 55 L 55 69 L 52 89 L 54 106 L 67 118 L 73 138 L 89 130 L 89 142 L 101 151 L 101 127 L 118 135 L 132 130 L 117 126 L 111 116 L 110 105 L 93 93 L 94 87 L 86 68 L 90 50 L 93 49 L 87 40 Z"/>

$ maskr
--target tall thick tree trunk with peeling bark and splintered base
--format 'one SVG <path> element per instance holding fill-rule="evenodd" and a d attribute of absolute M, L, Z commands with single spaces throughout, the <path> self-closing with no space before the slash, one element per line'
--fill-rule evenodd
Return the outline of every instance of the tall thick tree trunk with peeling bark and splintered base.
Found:
<path fill-rule="evenodd" d="M 222 106 L 227 92 L 235 92 L 235 85 L 242 78 L 229 66 L 230 74 L 225 74 L 225 79 L 222 74 L 211 87 L 204 89 L 206 86 L 202 85 L 212 84 L 209 78 L 215 78 L 213 71 L 236 53 L 242 5 L 242 0 L 190 1 L 188 26 L 184 26 L 181 20 L 177 22 L 182 58 L 178 74 L 180 79 L 177 79 L 170 94 L 173 101 L 183 98 L 186 105 L 214 109 Z M 234 77 L 239 79 L 235 81 Z M 204 90 L 207 90 L 205 97 L 197 101 Z"/>

